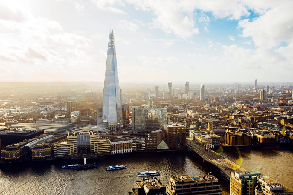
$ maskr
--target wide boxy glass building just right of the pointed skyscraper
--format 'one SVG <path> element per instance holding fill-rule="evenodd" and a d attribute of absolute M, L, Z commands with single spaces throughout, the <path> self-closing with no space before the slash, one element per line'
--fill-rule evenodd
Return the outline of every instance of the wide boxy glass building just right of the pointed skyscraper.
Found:
<path fill-rule="evenodd" d="M 132 130 L 148 132 L 165 130 L 167 125 L 167 108 L 132 108 Z"/>

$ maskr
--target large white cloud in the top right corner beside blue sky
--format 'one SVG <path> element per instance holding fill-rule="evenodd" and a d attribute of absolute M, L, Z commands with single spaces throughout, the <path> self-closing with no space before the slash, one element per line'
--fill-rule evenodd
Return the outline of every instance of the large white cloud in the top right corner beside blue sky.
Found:
<path fill-rule="evenodd" d="M 284 1 L 259 18 L 239 21 L 242 37 L 251 37 L 257 47 L 275 47 L 293 42 L 293 1 Z"/>

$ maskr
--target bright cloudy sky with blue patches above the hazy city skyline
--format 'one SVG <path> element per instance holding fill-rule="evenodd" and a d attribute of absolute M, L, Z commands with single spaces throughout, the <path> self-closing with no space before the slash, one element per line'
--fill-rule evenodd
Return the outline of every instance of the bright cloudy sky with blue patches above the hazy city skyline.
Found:
<path fill-rule="evenodd" d="M 292 0 L 0 0 L 0 82 L 292 82 Z"/>

